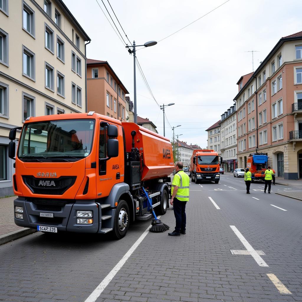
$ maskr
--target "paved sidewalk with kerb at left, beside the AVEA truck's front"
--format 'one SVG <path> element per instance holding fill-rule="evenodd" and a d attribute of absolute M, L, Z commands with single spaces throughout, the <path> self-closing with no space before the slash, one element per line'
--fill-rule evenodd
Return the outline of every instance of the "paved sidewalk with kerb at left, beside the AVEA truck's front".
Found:
<path fill-rule="evenodd" d="M 14 223 L 14 199 L 16 197 L 0 198 L 0 245 L 34 233 L 35 230 L 17 226 Z"/>

